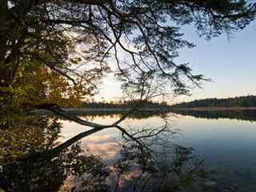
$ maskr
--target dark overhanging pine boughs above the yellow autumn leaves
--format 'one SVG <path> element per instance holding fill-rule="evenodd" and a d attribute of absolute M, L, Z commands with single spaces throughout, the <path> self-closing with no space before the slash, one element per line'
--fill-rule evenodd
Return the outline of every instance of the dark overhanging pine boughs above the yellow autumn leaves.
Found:
<path fill-rule="evenodd" d="M 114 54 L 126 83 L 154 75 L 182 94 L 188 92 L 180 75 L 197 85 L 203 77 L 174 62 L 178 49 L 194 46 L 182 39 L 179 26 L 194 23 L 199 35 L 211 38 L 241 30 L 255 16 L 255 4 L 244 0 L 5 0 L 0 10 L 0 86 L 10 85 L 24 59 L 43 62 L 74 82 L 78 71 L 71 63 L 102 71 Z M 131 62 L 121 62 L 118 52 Z"/>

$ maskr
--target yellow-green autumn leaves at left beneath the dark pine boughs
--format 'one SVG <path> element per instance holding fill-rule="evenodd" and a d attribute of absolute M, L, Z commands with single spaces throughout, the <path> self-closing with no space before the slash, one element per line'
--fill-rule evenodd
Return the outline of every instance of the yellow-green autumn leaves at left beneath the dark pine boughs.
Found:
<path fill-rule="evenodd" d="M 89 75 L 88 75 L 89 78 Z M 96 81 L 97 77 L 93 77 Z M 30 83 L 26 83 L 30 82 Z M 56 103 L 59 106 L 79 106 L 83 98 L 94 95 L 95 87 L 77 79 L 74 85 L 61 74 L 42 65 L 23 68 L 14 79 L 14 102 L 24 106 Z"/>

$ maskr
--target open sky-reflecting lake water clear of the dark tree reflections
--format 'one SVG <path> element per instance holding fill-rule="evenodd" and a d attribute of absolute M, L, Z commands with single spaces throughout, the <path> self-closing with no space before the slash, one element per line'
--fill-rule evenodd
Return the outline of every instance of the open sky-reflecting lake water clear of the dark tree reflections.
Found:
<path fill-rule="evenodd" d="M 256 190 L 256 111 L 181 111 L 180 114 L 170 113 L 167 116 L 170 130 L 175 133 L 166 134 L 166 142 L 192 147 L 194 158 L 203 159 L 206 169 L 214 170 L 209 179 L 222 188 L 216 191 Z M 83 118 L 109 124 L 118 115 Z M 87 129 L 74 122 L 61 122 L 62 142 Z M 146 118 L 127 118 L 122 127 L 132 131 L 143 127 L 154 129 L 163 124 L 162 118 L 149 115 Z M 82 139 L 81 145 L 83 149 L 101 155 L 103 161 L 112 166 L 120 158 L 118 142 L 122 142 L 122 135 L 113 128 Z M 158 146 L 158 150 L 163 148 Z M 164 149 L 167 154 L 168 149 Z"/>

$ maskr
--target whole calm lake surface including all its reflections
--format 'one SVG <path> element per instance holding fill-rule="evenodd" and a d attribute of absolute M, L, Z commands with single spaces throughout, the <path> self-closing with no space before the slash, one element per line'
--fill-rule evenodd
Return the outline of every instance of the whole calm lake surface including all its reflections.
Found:
<path fill-rule="evenodd" d="M 73 115 L 107 125 L 122 116 L 81 111 Z M 43 113 L 0 130 L 6 191 L 256 191 L 254 110 L 137 111 L 63 151 L 56 146 L 91 128 Z"/>

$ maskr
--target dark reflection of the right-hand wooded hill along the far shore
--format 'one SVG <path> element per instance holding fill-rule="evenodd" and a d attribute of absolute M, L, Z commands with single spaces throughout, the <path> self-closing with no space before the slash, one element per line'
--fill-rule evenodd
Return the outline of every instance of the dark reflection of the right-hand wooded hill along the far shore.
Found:
<path fill-rule="evenodd" d="M 174 113 L 182 115 L 190 115 L 195 118 L 230 118 L 239 119 L 250 122 L 256 121 L 255 110 L 218 110 L 218 111 L 202 111 L 202 110 L 174 110 Z"/>

